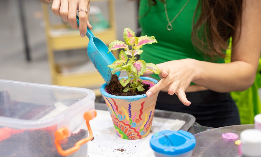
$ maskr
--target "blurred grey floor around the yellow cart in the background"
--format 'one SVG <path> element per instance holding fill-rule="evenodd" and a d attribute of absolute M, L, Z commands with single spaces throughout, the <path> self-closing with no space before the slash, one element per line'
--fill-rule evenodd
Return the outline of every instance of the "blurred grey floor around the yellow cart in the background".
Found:
<path fill-rule="evenodd" d="M 46 53 L 44 20 L 41 2 L 22 0 L 26 30 L 32 60 L 26 61 L 25 46 L 22 37 L 18 0 L 0 0 L 0 79 L 51 84 L 51 76 Z M 118 38 L 123 40 L 124 28 L 137 29 L 137 4 L 135 1 L 116 0 L 116 25 Z M 126 12 L 124 7 L 129 7 Z M 105 7 L 100 4 L 100 7 Z M 122 22 L 128 16 L 128 22 Z M 72 55 L 74 54 L 74 55 Z M 58 57 L 81 58 L 86 49 L 75 52 L 59 53 Z M 261 90 L 259 90 L 261 95 Z"/>

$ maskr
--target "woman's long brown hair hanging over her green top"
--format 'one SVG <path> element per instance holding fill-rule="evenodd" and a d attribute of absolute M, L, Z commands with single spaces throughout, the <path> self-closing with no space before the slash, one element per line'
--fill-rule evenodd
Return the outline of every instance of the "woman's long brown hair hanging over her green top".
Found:
<path fill-rule="evenodd" d="M 148 0 L 155 5 L 156 0 Z M 164 2 L 163 0 L 159 0 Z M 241 27 L 243 0 L 199 0 L 193 18 L 191 40 L 205 57 L 225 57 L 228 40 Z"/>

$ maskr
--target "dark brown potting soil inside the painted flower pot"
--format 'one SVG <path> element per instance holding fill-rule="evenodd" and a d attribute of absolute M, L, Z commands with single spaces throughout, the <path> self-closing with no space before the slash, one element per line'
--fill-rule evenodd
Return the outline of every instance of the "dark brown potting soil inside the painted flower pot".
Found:
<path fill-rule="evenodd" d="M 138 90 L 129 90 L 128 92 L 123 92 L 122 90 L 124 90 L 126 87 L 131 87 L 131 83 L 128 83 L 125 87 L 122 87 L 118 76 L 116 74 L 112 75 L 112 79 L 110 84 L 108 85 L 109 87 L 109 93 L 112 95 L 116 95 L 116 96 L 135 96 L 135 95 L 142 95 L 142 94 L 146 94 L 146 91 L 149 90 L 150 85 L 149 84 L 143 84 L 143 88 L 145 90 L 143 91 L 138 91 Z"/>

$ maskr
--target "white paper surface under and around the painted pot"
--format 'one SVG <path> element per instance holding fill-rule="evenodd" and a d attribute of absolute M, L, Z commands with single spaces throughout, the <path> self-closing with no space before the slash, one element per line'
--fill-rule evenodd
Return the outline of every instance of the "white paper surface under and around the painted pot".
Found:
<path fill-rule="evenodd" d="M 153 156 L 149 146 L 151 136 L 162 130 L 179 130 L 185 123 L 183 120 L 154 117 L 148 136 L 138 140 L 126 140 L 116 135 L 109 111 L 96 111 L 97 117 L 90 120 L 94 140 L 88 142 L 89 157 L 151 157 Z"/>

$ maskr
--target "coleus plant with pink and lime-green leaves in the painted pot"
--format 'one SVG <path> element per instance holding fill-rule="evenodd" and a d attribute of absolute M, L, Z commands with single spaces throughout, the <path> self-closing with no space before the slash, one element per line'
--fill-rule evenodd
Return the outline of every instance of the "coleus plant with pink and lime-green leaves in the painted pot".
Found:
<path fill-rule="evenodd" d="M 143 50 L 140 50 L 143 45 L 157 43 L 157 40 L 154 36 L 148 37 L 145 35 L 136 37 L 134 31 L 130 28 L 124 29 L 123 38 L 125 43 L 119 40 L 114 40 L 110 43 L 108 53 L 117 49 L 125 49 L 125 51 L 122 50 L 119 53 L 119 59 L 114 61 L 111 65 L 108 65 L 108 67 L 113 69 L 112 74 L 122 70 L 127 72 L 128 78 L 120 79 L 120 83 L 123 87 L 128 83 L 130 83 L 131 86 L 126 87 L 123 92 L 128 92 L 131 89 L 134 91 L 143 91 L 145 89 L 143 88 L 140 76 L 142 76 L 146 70 L 151 70 L 155 74 L 159 74 L 160 70 L 153 63 L 146 63 L 143 60 L 137 60 L 135 55 L 140 55 L 143 52 Z M 129 47 L 131 48 L 129 49 Z"/>

